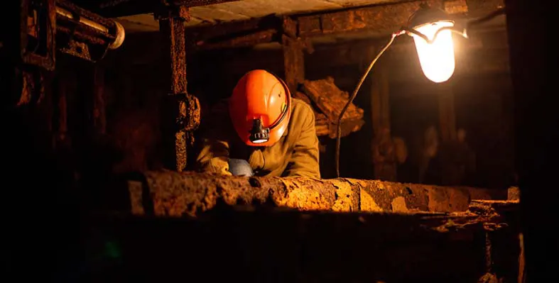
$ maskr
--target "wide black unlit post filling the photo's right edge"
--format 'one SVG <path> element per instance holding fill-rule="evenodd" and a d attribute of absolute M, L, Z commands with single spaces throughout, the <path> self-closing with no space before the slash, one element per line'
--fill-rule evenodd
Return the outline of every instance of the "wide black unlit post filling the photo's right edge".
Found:
<path fill-rule="evenodd" d="M 559 160 L 557 111 L 558 44 L 555 1 L 506 0 L 511 79 L 514 88 L 516 170 L 526 282 L 558 282 L 559 238 L 549 230 L 557 222 Z"/>

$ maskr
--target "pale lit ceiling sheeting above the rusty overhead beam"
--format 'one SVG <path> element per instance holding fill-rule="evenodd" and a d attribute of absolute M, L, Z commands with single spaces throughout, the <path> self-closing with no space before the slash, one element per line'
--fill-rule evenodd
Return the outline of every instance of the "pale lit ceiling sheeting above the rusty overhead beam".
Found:
<path fill-rule="evenodd" d="M 271 14 L 284 15 L 342 9 L 349 6 L 364 6 L 401 2 L 403 0 L 244 0 L 200 6 L 191 9 L 192 21 L 187 26 L 204 23 L 242 21 Z M 128 32 L 158 30 L 152 15 L 136 15 L 119 18 Z"/>

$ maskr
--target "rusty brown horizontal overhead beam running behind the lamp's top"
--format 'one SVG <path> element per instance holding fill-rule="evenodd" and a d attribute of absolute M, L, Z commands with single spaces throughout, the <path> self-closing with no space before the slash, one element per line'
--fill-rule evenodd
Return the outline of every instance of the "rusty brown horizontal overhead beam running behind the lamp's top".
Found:
<path fill-rule="evenodd" d="M 457 9 L 455 2 L 462 4 Z M 340 33 L 373 32 L 374 35 L 388 35 L 406 26 L 410 16 L 419 9 L 421 3 L 446 9 L 454 16 L 465 18 L 482 16 L 503 5 L 502 0 L 468 1 L 408 1 L 395 4 L 381 4 L 360 8 L 291 16 L 293 25 L 285 28 L 280 17 L 267 16 L 248 21 L 223 23 L 214 26 L 189 28 L 189 37 L 201 49 L 234 48 L 259 43 L 281 42 L 280 30 L 291 37 L 315 37 Z M 452 5 L 450 5 L 450 4 Z"/>

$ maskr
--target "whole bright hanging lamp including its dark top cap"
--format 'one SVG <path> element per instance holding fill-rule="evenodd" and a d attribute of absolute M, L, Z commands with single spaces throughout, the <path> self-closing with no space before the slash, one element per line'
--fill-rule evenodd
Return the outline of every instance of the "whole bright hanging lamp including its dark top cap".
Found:
<path fill-rule="evenodd" d="M 454 22 L 448 20 L 446 13 L 442 10 L 423 7 L 413 16 L 411 26 L 429 40 L 411 33 L 413 41 L 416 43 L 423 74 L 433 82 L 446 82 L 452 77 L 455 70 L 454 44 L 452 43 L 452 31 L 440 29 L 452 28 Z M 435 34 L 437 34 L 436 38 Z"/>

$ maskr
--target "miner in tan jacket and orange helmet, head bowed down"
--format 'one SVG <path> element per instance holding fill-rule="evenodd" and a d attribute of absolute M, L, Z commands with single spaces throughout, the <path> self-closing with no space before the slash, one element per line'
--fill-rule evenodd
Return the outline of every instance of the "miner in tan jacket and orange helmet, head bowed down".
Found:
<path fill-rule="evenodd" d="M 206 123 L 197 157 L 202 172 L 320 179 L 313 109 L 270 72 L 244 74 Z"/>

